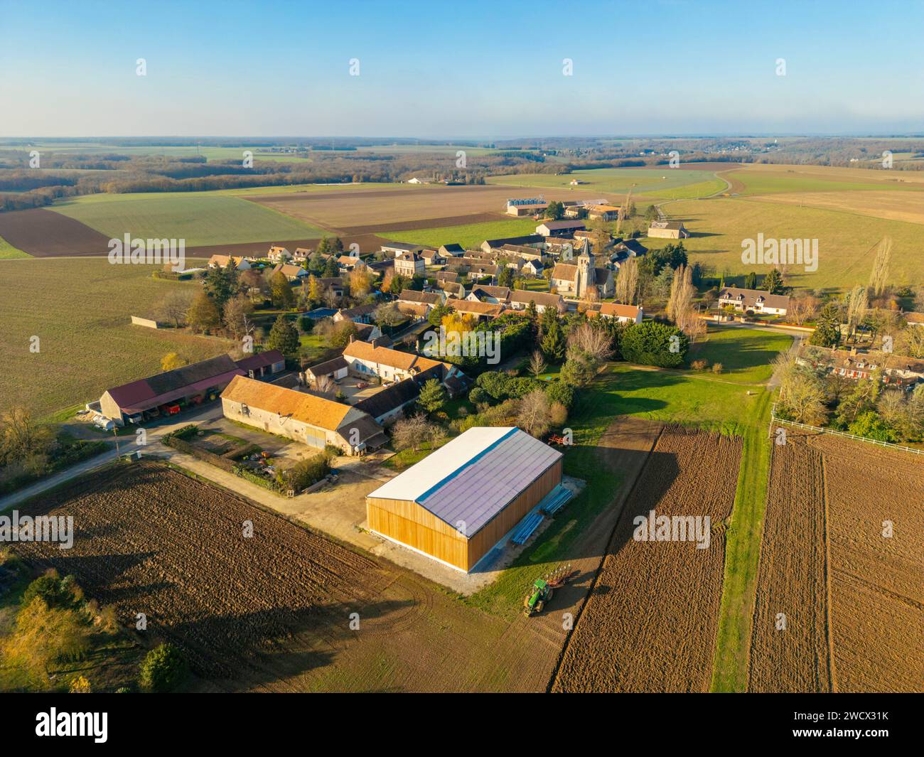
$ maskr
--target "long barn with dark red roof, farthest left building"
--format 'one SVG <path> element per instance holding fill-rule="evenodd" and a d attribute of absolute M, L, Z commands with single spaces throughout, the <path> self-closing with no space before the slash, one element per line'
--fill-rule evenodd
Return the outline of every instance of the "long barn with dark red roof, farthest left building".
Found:
<path fill-rule="evenodd" d="M 230 356 L 219 355 L 106 389 L 100 397 L 100 413 L 117 426 L 150 421 L 217 398 L 235 376 L 243 374 Z"/>

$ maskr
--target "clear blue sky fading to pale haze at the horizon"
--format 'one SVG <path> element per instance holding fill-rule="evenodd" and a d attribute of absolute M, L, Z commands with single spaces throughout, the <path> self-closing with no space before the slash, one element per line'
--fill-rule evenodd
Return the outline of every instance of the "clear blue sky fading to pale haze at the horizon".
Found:
<path fill-rule="evenodd" d="M 0 0 L 0 137 L 921 133 L 922 21 L 920 0 Z"/>

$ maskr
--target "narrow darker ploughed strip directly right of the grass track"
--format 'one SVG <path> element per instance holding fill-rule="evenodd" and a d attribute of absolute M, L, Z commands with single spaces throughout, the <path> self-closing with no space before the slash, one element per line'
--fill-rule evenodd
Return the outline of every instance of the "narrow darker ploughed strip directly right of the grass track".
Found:
<path fill-rule="evenodd" d="M 748 690 L 830 691 L 821 453 L 786 432 L 772 448 Z"/>

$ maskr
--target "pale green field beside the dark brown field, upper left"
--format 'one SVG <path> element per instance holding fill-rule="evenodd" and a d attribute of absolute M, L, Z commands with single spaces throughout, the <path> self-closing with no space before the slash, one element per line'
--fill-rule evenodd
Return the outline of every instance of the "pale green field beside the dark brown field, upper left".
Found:
<path fill-rule="evenodd" d="M 186 239 L 187 247 L 320 238 L 323 231 L 238 197 L 213 192 L 92 194 L 51 210 L 107 237 Z"/>

